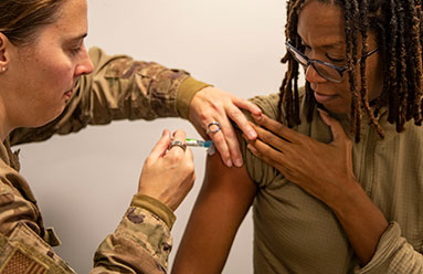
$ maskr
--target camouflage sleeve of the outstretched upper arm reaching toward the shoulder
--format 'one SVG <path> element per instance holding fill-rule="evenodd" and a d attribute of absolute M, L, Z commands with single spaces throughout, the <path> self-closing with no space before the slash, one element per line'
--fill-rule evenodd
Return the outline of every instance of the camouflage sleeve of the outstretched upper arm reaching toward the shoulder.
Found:
<path fill-rule="evenodd" d="M 80 78 L 61 116 L 41 128 L 14 130 L 11 145 L 40 141 L 115 119 L 187 118 L 192 97 L 208 86 L 184 71 L 126 55 L 109 56 L 98 48 L 89 50 L 89 57 L 94 71 Z"/>

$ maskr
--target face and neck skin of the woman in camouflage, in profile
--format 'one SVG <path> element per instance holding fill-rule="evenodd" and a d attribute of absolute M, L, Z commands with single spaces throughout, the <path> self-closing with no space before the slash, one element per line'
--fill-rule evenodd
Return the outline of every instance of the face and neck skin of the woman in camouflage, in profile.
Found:
<path fill-rule="evenodd" d="M 39 30 L 36 41 L 15 46 L 0 33 L 0 134 L 42 126 L 64 109 L 78 77 L 93 71 L 84 46 L 86 2 L 66 1 L 54 24 Z"/>

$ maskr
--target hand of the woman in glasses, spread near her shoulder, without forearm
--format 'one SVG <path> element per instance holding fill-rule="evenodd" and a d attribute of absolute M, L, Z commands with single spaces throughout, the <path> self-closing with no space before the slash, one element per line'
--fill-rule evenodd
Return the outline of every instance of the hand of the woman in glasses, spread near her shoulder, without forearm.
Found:
<path fill-rule="evenodd" d="M 352 141 L 336 119 L 322 112 L 320 117 L 331 129 L 334 140 L 330 144 L 317 141 L 262 115 L 255 119 L 268 130 L 254 126 L 258 138 L 248 141 L 247 147 L 288 180 L 331 207 L 357 183 L 352 171 Z"/>

